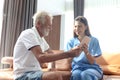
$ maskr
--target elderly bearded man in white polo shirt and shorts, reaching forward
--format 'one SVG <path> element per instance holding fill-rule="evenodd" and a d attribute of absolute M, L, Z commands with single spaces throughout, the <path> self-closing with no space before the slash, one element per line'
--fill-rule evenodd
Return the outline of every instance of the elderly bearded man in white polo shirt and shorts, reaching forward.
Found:
<path fill-rule="evenodd" d="M 45 11 L 33 16 L 34 26 L 24 30 L 14 47 L 15 80 L 63 80 L 59 71 L 42 72 L 41 64 L 59 59 L 78 56 L 81 49 L 76 47 L 67 52 L 53 54 L 44 37 L 52 29 L 52 16 Z"/>

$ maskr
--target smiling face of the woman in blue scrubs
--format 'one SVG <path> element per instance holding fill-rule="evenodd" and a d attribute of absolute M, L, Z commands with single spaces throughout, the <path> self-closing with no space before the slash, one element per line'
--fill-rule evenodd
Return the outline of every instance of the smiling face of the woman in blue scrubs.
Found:
<path fill-rule="evenodd" d="M 86 26 L 83 23 L 79 21 L 75 21 L 74 32 L 76 33 L 76 35 L 84 36 L 85 30 L 86 30 Z"/>

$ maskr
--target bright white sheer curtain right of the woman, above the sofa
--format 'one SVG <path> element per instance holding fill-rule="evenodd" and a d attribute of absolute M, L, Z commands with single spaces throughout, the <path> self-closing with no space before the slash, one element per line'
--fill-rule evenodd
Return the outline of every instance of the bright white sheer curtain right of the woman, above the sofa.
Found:
<path fill-rule="evenodd" d="M 84 16 L 102 52 L 120 52 L 120 0 L 85 0 Z"/>

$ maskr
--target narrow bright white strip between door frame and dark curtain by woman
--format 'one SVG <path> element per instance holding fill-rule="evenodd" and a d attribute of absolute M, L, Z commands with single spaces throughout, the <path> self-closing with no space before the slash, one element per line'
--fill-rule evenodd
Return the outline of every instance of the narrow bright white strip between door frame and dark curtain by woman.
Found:
<path fill-rule="evenodd" d="M 65 33 L 64 33 L 64 49 L 68 40 L 73 37 L 73 0 L 66 0 L 65 6 Z"/>

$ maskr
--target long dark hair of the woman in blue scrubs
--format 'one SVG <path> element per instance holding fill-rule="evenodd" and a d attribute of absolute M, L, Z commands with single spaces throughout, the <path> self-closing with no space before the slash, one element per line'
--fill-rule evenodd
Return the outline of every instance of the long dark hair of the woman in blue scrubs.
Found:
<path fill-rule="evenodd" d="M 85 17 L 78 16 L 78 17 L 75 18 L 75 21 L 79 21 L 79 22 L 83 23 L 87 27 L 87 29 L 85 30 L 85 35 L 86 36 L 91 36 L 88 21 L 87 21 L 87 19 Z M 74 32 L 74 37 L 78 37 L 78 35 L 75 32 Z"/>

